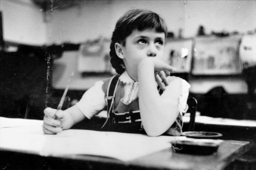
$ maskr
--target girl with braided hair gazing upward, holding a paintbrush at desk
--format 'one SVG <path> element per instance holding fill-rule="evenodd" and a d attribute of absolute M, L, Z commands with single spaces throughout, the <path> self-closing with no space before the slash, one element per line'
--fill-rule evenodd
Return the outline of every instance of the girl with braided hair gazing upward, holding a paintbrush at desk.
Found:
<path fill-rule="evenodd" d="M 169 76 L 174 67 L 160 60 L 166 31 L 164 20 L 148 10 L 130 10 L 120 17 L 110 44 L 110 61 L 118 76 L 96 82 L 65 111 L 46 108 L 44 133 L 68 129 L 107 106 L 103 130 L 180 135 L 190 85 Z"/>

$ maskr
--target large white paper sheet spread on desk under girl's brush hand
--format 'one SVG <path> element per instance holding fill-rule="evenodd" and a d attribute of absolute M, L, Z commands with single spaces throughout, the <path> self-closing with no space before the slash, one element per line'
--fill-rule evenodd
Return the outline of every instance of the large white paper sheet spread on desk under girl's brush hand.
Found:
<path fill-rule="evenodd" d="M 2 123 L 5 120 L 10 121 L 1 118 Z M 13 121 L 15 123 L 18 120 Z M 48 135 L 43 134 L 41 123 L 30 121 L 31 123 L 22 127 L 0 128 L 0 149 L 36 153 L 42 156 L 85 154 L 129 161 L 170 148 L 170 141 L 180 138 L 75 129 Z M 10 126 L 11 123 L 8 125 Z"/>

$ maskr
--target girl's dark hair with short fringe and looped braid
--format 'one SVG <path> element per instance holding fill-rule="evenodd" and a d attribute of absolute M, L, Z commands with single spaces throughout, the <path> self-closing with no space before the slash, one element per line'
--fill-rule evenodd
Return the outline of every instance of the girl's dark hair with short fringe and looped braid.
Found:
<path fill-rule="evenodd" d="M 116 55 L 115 43 L 125 45 L 126 37 L 132 34 L 133 30 L 143 31 L 148 28 L 155 28 L 156 32 L 164 32 L 166 36 L 167 27 L 164 20 L 150 10 L 129 10 L 116 22 L 115 30 L 112 34 L 110 43 L 110 62 L 116 73 L 122 74 L 125 69 L 122 67 L 124 61 Z"/>

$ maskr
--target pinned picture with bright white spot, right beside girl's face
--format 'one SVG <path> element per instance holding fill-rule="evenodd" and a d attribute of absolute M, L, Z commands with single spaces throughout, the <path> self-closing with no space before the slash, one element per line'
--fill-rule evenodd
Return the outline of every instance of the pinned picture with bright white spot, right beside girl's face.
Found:
<path fill-rule="evenodd" d="M 167 41 L 163 61 L 175 67 L 176 73 L 190 73 L 192 44 L 192 39 Z"/>

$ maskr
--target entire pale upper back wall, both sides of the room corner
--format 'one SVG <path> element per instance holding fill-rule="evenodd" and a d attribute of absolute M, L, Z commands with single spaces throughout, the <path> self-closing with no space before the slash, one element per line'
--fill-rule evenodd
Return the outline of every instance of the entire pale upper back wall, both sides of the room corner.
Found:
<path fill-rule="evenodd" d="M 176 36 L 182 29 L 184 37 L 194 37 L 199 25 L 207 34 L 256 29 L 254 0 L 84 0 L 69 10 L 55 7 L 45 20 L 42 9 L 30 0 L 1 0 L 4 40 L 42 45 L 110 38 L 117 19 L 132 8 L 159 13 Z"/>

